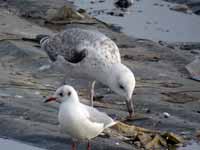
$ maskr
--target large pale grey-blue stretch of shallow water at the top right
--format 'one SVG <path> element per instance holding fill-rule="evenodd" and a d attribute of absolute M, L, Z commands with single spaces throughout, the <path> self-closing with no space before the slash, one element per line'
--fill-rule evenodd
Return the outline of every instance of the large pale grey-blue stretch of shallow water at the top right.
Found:
<path fill-rule="evenodd" d="M 74 3 L 92 16 L 122 27 L 122 31 L 128 35 L 154 41 L 200 42 L 200 16 L 172 11 L 172 3 L 162 0 L 135 1 L 120 17 L 107 14 L 122 12 L 114 6 L 113 0 L 96 0 L 93 4 L 90 1 L 74 0 Z"/>

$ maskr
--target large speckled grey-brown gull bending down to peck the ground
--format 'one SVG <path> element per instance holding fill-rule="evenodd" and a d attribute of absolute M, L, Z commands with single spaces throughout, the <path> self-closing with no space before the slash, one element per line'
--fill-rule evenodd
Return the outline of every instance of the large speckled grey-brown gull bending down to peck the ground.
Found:
<path fill-rule="evenodd" d="M 129 116 L 132 117 L 135 77 L 121 63 L 119 49 L 114 41 L 99 31 L 68 28 L 53 36 L 44 36 L 40 44 L 50 60 L 66 76 L 93 81 L 90 99 L 92 106 L 95 81 L 99 81 L 126 99 Z"/>

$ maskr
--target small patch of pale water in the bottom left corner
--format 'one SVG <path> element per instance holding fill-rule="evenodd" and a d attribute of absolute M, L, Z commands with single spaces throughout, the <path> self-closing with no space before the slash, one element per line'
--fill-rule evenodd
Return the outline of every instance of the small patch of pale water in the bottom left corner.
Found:
<path fill-rule="evenodd" d="M 0 138 L 1 150 L 45 150 L 38 147 L 23 144 L 17 141 Z"/>

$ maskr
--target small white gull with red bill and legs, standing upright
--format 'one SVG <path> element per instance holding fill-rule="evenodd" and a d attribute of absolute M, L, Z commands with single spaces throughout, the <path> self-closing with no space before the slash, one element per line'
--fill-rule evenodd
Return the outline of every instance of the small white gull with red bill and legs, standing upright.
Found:
<path fill-rule="evenodd" d="M 76 149 L 75 141 L 85 140 L 88 141 L 87 149 L 90 150 L 90 140 L 117 123 L 96 108 L 80 103 L 76 90 L 69 85 L 58 88 L 45 102 L 50 101 L 61 103 L 58 113 L 60 129 L 72 138 L 73 150 Z"/>

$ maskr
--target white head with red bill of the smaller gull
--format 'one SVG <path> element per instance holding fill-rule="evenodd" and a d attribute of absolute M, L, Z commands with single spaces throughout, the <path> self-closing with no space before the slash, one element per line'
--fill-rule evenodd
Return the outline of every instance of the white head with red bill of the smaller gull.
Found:
<path fill-rule="evenodd" d="M 65 101 L 77 102 L 79 100 L 78 100 L 77 92 L 72 86 L 63 85 L 56 90 L 53 96 L 45 100 L 45 103 L 50 102 L 50 101 L 63 103 Z"/>

